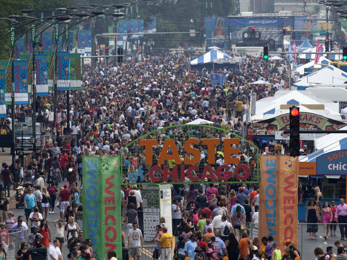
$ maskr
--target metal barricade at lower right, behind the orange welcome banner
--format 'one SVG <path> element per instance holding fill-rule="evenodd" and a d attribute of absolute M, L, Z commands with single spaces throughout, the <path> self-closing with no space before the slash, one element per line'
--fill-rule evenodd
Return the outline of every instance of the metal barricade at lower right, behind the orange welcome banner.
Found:
<path fill-rule="evenodd" d="M 326 253 L 327 247 L 331 246 L 333 247 L 333 253 L 336 255 L 337 248 L 334 245 L 335 241 L 339 240 L 342 245 L 347 241 L 347 223 L 298 223 L 297 225 L 297 249 L 300 251 L 301 259 L 304 260 L 314 260 L 313 251 L 317 247 L 320 247 Z M 328 230 L 327 239 L 325 239 L 325 228 Z M 342 230 L 345 233 L 345 240 L 341 240 L 343 237 L 341 235 Z M 331 234 L 333 235 L 331 236 Z M 314 239 L 310 239 L 310 235 L 313 235 Z M 258 234 L 258 224 L 251 223 L 249 238 L 254 239 L 255 237 L 261 240 L 261 235 Z"/>

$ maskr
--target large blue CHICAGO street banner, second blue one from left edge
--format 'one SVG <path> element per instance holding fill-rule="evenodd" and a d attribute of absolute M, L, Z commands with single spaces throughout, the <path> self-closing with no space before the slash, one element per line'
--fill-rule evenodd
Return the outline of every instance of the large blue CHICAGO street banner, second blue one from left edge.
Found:
<path fill-rule="evenodd" d="M 14 104 L 28 104 L 28 61 L 14 61 Z"/>

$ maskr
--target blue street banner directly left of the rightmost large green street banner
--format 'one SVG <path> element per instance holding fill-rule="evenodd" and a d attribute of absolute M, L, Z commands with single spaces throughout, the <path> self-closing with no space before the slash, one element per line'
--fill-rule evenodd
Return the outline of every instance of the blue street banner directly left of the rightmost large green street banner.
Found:
<path fill-rule="evenodd" d="M 58 90 L 70 90 L 69 52 L 58 52 Z"/>

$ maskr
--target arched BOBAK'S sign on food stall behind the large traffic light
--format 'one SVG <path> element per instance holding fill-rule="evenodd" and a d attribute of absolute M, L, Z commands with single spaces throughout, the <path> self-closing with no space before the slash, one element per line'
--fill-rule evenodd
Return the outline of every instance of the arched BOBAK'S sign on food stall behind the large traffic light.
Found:
<path fill-rule="evenodd" d="M 346 126 L 340 122 L 322 115 L 300 112 L 300 130 L 339 130 Z M 249 124 L 248 135 L 275 135 L 276 131 L 289 129 L 289 113 Z"/>

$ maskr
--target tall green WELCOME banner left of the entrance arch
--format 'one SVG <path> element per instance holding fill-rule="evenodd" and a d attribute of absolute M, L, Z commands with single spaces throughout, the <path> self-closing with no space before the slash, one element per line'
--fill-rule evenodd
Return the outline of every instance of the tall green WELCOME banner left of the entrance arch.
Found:
<path fill-rule="evenodd" d="M 121 255 L 119 156 L 83 156 L 83 232 L 97 260 L 109 251 Z"/>

